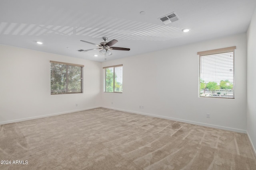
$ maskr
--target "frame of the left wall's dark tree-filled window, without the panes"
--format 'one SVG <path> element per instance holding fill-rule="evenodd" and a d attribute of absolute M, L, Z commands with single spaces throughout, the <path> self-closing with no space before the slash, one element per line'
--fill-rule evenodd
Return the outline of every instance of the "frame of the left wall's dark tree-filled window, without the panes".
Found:
<path fill-rule="evenodd" d="M 65 88 L 65 92 L 57 92 L 56 90 L 52 90 L 52 64 L 63 64 L 66 67 L 66 77 L 68 77 L 68 67 L 72 67 L 72 66 L 78 66 L 80 67 L 80 81 L 81 81 L 81 88 L 77 89 L 80 90 L 78 92 L 68 92 L 68 85 L 70 82 L 70 80 L 68 80 L 68 78 L 66 78 L 65 80 L 65 84 L 66 84 L 66 88 Z M 50 92 L 51 95 L 55 95 L 55 94 L 80 94 L 84 92 L 84 65 L 81 64 L 72 64 L 72 63 L 64 63 L 64 62 L 59 62 L 59 61 L 50 61 Z M 55 92 L 55 93 L 54 93 Z"/>

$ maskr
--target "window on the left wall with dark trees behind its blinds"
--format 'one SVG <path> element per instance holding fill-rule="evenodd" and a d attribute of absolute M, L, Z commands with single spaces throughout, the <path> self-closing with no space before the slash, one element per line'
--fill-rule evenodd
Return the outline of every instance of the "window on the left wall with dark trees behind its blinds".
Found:
<path fill-rule="evenodd" d="M 50 61 L 51 94 L 83 93 L 84 65 Z"/>

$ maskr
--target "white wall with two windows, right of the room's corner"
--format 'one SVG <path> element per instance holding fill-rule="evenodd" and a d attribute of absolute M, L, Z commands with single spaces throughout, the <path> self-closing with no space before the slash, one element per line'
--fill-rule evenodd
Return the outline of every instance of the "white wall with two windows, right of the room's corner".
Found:
<path fill-rule="evenodd" d="M 235 99 L 199 98 L 197 52 L 231 46 Z M 102 106 L 246 133 L 246 48 L 244 33 L 106 61 L 123 64 L 123 93 L 102 92 Z"/>

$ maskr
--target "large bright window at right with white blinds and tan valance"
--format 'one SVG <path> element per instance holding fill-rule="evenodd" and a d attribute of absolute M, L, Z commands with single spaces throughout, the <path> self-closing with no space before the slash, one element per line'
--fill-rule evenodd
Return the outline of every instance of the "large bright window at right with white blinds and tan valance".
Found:
<path fill-rule="evenodd" d="M 235 49 L 234 46 L 198 52 L 200 97 L 235 98 Z"/>

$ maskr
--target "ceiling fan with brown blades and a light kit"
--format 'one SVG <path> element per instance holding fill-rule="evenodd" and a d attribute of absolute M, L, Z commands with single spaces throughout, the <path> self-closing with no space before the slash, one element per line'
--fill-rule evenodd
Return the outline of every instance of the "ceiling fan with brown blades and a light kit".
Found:
<path fill-rule="evenodd" d="M 118 41 L 116 39 L 113 39 L 109 42 L 106 42 L 108 40 L 107 37 L 102 37 L 102 39 L 104 40 L 104 42 L 100 43 L 100 45 L 98 44 L 94 44 L 94 43 L 90 43 L 88 41 L 84 41 L 84 40 L 80 40 L 84 43 L 89 43 L 89 44 L 93 44 L 93 45 L 96 45 L 98 46 L 99 48 L 94 48 L 94 49 L 88 49 L 88 50 L 78 50 L 80 52 L 87 52 L 87 51 L 90 51 L 90 50 L 96 50 L 96 49 L 101 49 L 99 52 L 101 54 L 104 54 L 105 56 L 106 55 L 112 55 L 112 52 L 111 50 L 124 50 L 124 51 L 130 51 L 130 49 L 128 48 L 123 48 L 123 47 L 112 47 L 112 45 L 114 45 L 115 43 L 117 43 Z"/>

